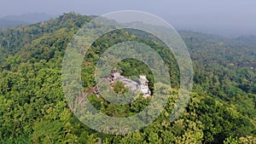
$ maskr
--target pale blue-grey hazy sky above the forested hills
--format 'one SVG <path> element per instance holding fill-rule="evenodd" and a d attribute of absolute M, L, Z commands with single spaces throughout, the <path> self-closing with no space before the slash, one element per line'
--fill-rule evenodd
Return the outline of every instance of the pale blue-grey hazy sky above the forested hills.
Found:
<path fill-rule="evenodd" d="M 0 16 L 44 12 L 105 14 L 143 10 L 156 14 L 177 29 L 256 35 L 255 0 L 0 0 Z"/>

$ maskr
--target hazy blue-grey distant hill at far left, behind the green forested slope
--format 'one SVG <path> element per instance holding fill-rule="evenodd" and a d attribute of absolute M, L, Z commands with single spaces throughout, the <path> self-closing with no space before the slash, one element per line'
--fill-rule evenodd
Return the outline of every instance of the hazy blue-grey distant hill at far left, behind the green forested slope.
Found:
<path fill-rule="evenodd" d="M 53 16 L 45 13 L 7 15 L 0 18 L 0 29 L 34 24 L 40 21 L 49 20 L 51 17 Z"/>

